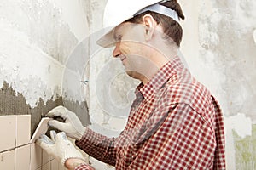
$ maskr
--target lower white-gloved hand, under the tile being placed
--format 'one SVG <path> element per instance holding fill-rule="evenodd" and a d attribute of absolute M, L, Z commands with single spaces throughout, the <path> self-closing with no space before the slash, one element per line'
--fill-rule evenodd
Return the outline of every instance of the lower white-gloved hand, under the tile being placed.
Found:
<path fill-rule="evenodd" d="M 55 131 L 50 131 L 50 136 L 51 139 L 43 134 L 36 141 L 36 143 L 50 156 L 54 156 L 55 159 L 61 161 L 63 166 L 68 158 L 81 159 L 85 163 L 82 154 L 79 152 L 79 150 L 75 149 L 73 143 L 67 139 L 64 132 L 56 134 Z"/>

